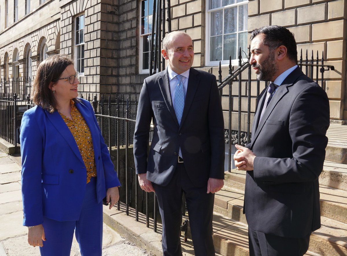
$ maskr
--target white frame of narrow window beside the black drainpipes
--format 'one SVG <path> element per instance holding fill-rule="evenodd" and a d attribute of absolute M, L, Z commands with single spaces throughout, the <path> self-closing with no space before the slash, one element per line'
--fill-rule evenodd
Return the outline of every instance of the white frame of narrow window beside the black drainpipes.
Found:
<path fill-rule="evenodd" d="M 148 22 L 147 22 L 148 25 L 150 24 L 150 22 L 152 23 L 153 14 L 151 14 L 151 15 L 148 15 L 148 14 L 153 12 L 153 2 L 155 0 L 147 0 L 148 1 L 147 4 L 148 4 L 148 11 L 149 12 L 148 12 L 147 15 L 145 14 L 145 16 L 142 17 L 142 4 L 143 4 L 144 1 L 145 0 L 141 0 L 141 2 L 140 2 L 140 17 L 139 17 L 139 20 L 140 20 L 140 28 L 139 29 L 140 29 L 140 31 L 139 31 L 139 63 L 138 63 L 138 70 L 139 70 L 139 73 L 142 73 L 142 74 L 149 73 L 150 72 L 150 67 L 151 67 L 151 65 L 150 65 L 151 63 L 150 63 L 150 59 L 149 59 L 149 61 L 148 61 L 148 69 L 143 69 L 143 61 L 144 61 L 143 60 L 143 41 L 144 41 L 144 38 L 146 38 L 147 36 L 150 36 L 150 38 L 152 36 L 152 30 L 151 31 L 149 30 L 149 26 L 147 28 L 148 29 L 147 33 L 143 33 L 142 34 L 142 31 L 141 31 L 141 28 L 142 28 L 142 18 L 143 17 L 147 17 L 148 18 Z M 152 7 L 150 7 L 150 5 L 149 5 L 150 1 L 152 1 Z M 153 28 L 153 25 L 152 25 L 152 29 L 155 29 L 155 28 Z M 155 33 L 154 33 L 154 36 L 155 36 Z M 150 50 L 152 44 L 153 44 L 153 42 L 150 42 L 149 50 Z M 149 51 L 149 58 L 150 58 L 150 55 L 151 55 L 151 53 Z"/>

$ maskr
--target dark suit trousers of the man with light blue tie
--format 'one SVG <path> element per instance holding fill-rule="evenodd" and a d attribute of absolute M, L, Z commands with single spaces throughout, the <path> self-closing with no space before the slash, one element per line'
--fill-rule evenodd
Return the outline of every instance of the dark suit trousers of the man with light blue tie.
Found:
<path fill-rule="evenodd" d="M 184 163 L 178 163 L 167 186 L 153 184 L 162 220 L 164 256 L 181 256 L 180 226 L 182 196 L 186 198 L 189 225 L 196 256 L 214 256 L 212 217 L 214 194 L 207 194 L 207 184 L 195 187 L 188 177 Z"/>

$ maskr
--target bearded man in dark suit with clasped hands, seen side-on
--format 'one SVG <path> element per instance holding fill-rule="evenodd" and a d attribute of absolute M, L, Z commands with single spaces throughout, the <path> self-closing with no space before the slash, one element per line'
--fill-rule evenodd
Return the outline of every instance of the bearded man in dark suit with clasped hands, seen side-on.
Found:
<path fill-rule="evenodd" d="M 255 29 L 251 59 L 259 95 L 252 141 L 236 145 L 235 166 L 247 171 L 244 212 L 249 255 L 298 256 L 320 228 L 319 183 L 329 100 L 297 66 L 294 35 L 280 26 Z"/>

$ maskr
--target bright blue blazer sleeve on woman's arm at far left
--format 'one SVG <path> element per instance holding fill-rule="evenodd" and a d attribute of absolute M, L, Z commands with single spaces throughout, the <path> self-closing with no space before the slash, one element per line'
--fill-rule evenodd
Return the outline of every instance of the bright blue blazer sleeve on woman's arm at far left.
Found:
<path fill-rule="evenodd" d="M 22 200 L 24 226 L 43 222 L 42 211 L 42 153 L 43 135 L 34 113 L 25 112 L 20 126 L 22 155 Z"/>

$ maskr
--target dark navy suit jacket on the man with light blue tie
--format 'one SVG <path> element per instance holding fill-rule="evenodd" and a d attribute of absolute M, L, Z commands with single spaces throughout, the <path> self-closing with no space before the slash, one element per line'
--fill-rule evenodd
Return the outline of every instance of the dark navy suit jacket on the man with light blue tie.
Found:
<path fill-rule="evenodd" d="M 153 120 L 153 139 L 148 153 L 149 131 Z M 180 125 L 172 105 L 168 71 L 144 80 L 138 102 L 134 134 L 137 174 L 167 185 L 174 174 L 179 147 L 184 165 L 197 187 L 208 179 L 224 178 L 224 122 L 215 76 L 189 71 L 188 87 Z"/>

